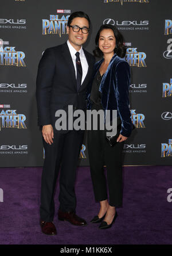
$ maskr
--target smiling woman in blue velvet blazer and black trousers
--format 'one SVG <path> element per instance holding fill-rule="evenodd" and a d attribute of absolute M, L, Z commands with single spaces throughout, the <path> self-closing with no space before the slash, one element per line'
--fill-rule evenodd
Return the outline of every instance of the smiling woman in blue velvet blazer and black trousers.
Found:
<path fill-rule="evenodd" d="M 88 131 L 88 154 L 95 200 L 100 211 L 91 220 L 100 223 L 99 228 L 110 228 L 114 223 L 116 207 L 122 206 L 122 150 L 124 141 L 132 131 L 128 89 L 130 66 L 124 59 L 126 48 L 123 36 L 110 24 L 102 25 L 96 36 L 95 56 L 103 56 L 95 64 L 92 87 L 88 95 L 88 108 L 117 110 L 120 134 L 114 147 L 106 140 L 106 132 Z M 103 166 L 107 166 L 107 182 Z M 107 185 L 109 201 L 107 197 Z"/>

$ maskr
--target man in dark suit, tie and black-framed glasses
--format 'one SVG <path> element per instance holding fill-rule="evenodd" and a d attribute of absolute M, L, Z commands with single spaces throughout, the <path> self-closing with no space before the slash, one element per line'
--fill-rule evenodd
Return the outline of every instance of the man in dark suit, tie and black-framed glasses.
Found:
<path fill-rule="evenodd" d="M 56 235 L 53 224 L 54 189 L 60 169 L 60 208 L 58 219 L 77 226 L 87 225 L 76 215 L 75 177 L 84 132 L 57 131 L 57 110 L 86 109 L 85 95 L 92 78 L 95 58 L 82 45 L 88 37 L 90 21 L 83 12 L 72 13 L 68 20 L 68 41 L 45 50 L 37 74 L 38 125 L 42 127 L 45 162 L 41 182 L 40 224 L 44 234 Z M 73 113 L 72 113 L 73 114 Z M 67 121 L 68 123 L 68 121 Z"/>

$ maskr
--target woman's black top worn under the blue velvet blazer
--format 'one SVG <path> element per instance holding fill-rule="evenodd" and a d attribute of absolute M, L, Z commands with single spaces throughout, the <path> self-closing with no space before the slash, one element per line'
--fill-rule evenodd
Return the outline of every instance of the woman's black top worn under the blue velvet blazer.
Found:
<path fill-rule="evenodd" d="M 103 74 L 104 75 L 104 74 Z M 96 107 L 96 109 L 103 109 L 101 105 L 101 93 L 99 91 L 101 79 L 103 78 L 103 75 L 100 75 L 100 71 L 97 71 L 97 74 L 92 82 L 92 89 L 91 89 L 91 95 L 90 100 L 92 102 L 92 105 Z"/>

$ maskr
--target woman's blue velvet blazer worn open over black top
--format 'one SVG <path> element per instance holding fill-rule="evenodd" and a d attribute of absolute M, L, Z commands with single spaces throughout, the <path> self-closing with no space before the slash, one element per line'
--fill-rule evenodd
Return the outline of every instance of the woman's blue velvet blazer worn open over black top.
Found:
<path fill-rule="evenodd" d="M 95 63 L 93 79 L 104 59 Z M 101 92 L 101 105 L 104 110 L 117 110 L 117 116 L 122 121 L 120 133 L 129 137 L 132 131 L 131 113 L 129 109 L 128 91 L 130 86 L 130 66 L 126 60 L 114 54 L 111 62 L 101 79 L 99 91 Z M 88 91 L 88 109 L 91 109 L 91 87 Z"/>

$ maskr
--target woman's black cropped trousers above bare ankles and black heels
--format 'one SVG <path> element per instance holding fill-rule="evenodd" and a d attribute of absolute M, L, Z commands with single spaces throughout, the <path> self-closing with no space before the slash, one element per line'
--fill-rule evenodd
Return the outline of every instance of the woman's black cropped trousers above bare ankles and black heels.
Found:
<path fill-rule="evenodd" d="M 122 150 L 124 142 L 114 147 L 105 140 L 105 131 L 88 131 L 88 155 L 93 191 L 96 201 L 103 201 L 110 196 L 112 207 L 122 207 Z M 107 166 L 107 181 L 103 166 Z"/>

